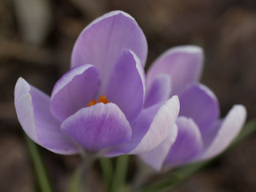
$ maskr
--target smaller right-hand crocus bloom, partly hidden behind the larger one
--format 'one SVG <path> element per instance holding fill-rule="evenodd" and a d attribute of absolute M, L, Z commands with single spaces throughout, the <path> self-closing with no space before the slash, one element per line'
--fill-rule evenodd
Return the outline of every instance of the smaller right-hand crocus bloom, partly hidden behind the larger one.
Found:
<path fill-rule="evenodd" d="M 157 148 L 140 155 L 155 170 L 213 158 L 230 145 L 246 120 L 242 105 L 233 106 L 226 118 L 219 118 L 217 98 L 198 83 L 202 63 L 201 48 L 178 46 L 162 54 L 148 71 L 145 107 L 154 105 L 158 94 L 162 95 L 162 101 L 177 94 L 180 101 L 176 140 L 168 136 Z"/>

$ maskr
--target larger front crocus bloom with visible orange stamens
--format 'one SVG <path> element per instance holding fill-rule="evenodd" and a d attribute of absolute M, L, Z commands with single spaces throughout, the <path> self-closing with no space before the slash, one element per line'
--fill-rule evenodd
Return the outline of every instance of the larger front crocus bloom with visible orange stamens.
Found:
<path fill-rule="evenodd" d="M 23 130 L 58 154 L 83 150 L 108 157 L 145 153 L 167 135 L 174 138 L 177 96 L 164 101 L 156 96 L 155 105 L 142 111 L 146 54 L 146 38 L 129 14 L 113 11 L 97 18 L 79 35 L 71 69 L 51 97 L 18 79 L 14 102 Z"/>

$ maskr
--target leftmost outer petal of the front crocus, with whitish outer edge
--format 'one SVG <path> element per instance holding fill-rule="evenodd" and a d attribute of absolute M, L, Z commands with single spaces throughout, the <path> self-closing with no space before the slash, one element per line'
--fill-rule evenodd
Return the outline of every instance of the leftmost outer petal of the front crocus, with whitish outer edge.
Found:
<path fill-rule="evenodd" d="M 50 97 L 19 78 L 14 90 L 18 121 L 38 145 L 58 154 L 76 154 L 78 149 L 60 130 L 60 123 L 50 113 Z"/>

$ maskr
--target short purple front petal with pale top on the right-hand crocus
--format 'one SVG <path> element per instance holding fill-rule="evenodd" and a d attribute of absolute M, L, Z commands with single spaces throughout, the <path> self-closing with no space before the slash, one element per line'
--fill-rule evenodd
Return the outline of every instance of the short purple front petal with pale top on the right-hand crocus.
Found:
<path fill-rule="evenodd" d="M 176 124 L 178 136 L 167 154 L 164 162 L 166 166 L 178 166 L 190 162 L 202 152 L 202 137 L 193 119 L 179 117 Z"/>

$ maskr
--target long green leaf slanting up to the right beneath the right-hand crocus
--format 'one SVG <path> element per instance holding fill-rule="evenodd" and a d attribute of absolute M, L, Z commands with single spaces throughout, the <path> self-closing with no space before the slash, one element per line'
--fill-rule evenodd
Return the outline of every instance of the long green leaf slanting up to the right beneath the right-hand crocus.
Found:
<path fill-rule="evenodd" d="M 238 142 L 241 142 L 244 138 L 252 134 L 255 130 L 256 130 L 256 118 L 246 123 L 246 125 L 242 128 L 240 134 L 238 135 L 238 138 L 236 138 L 234 142 L 232 142 L 230 147 L 238 144 Z M 209 161 L 195 162 L 190 165 L 183 166 L 178 170 L 174 170 L 169 174 L 165 174 L 163 178 L 150 184 L 149 186 L 144 186 L 141 189 L 134 190 L 134 191 L 135 192 L 154 192 L 154 191 L 170 190 L 170 188 L 173 188 L 174 186 L 178 185 L 178 183 L 183 182 L 186 178 L 189 178 L 192 174 L 195 174 L 196 172 L 198 172 L 198 170 L 202 170 L 203 167 L 208 166 L 211 162 L 214 162 L 214 160 L 216 160 L 217 158 L 212 158 Z"/>

